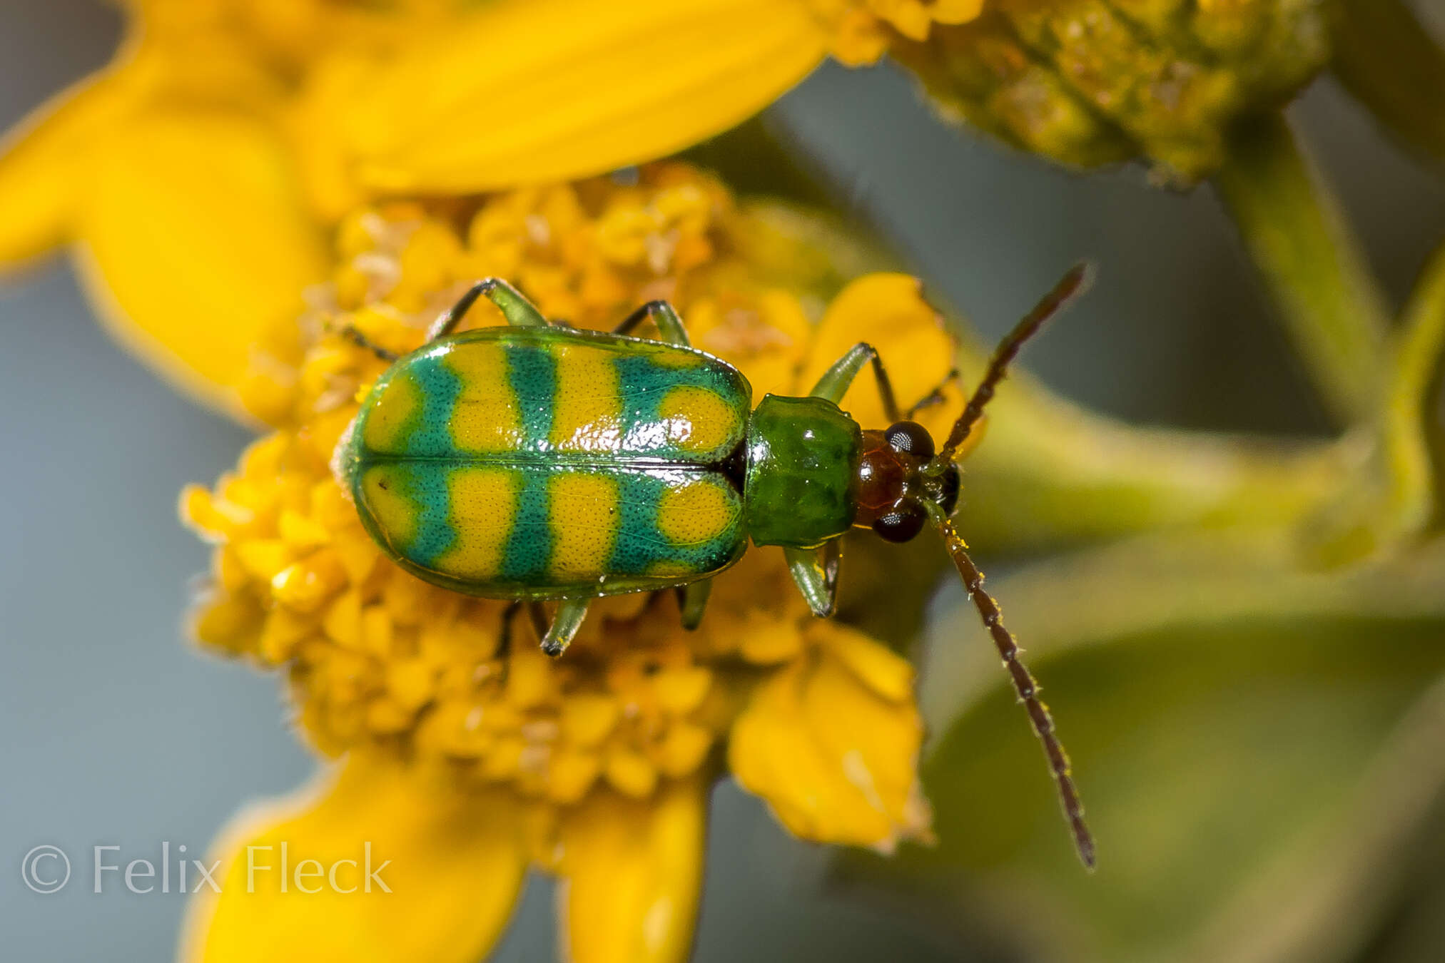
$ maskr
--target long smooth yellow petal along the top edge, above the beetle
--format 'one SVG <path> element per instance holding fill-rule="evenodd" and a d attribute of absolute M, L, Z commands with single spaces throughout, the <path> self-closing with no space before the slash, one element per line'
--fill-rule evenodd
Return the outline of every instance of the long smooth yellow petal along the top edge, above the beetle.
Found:
<path fill-rule="evenodd" d="M 494 0 L 311 116 L 381 191 L 562 180 L 673 153 L 824 56 L 796 0 Z"/>

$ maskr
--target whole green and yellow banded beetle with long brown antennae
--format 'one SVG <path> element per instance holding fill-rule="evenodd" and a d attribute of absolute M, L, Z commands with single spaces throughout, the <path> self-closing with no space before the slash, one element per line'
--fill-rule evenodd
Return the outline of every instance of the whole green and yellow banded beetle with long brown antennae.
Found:
<path fill-rule="evenodd" d="M 936 446 L 899 411 L 866 342 L 808 396 L 767 394 L 754 409 L 747 378 L 692 348 L 666 302 L 643 305 L 613 332 L 582 331 L 548 322 L 509 283 L 487 279 L 405 357 L 344 331 L 392 367 L 361 401 L 332 468 L 387 556 L 434 585 L 512 599 L 504 645 L 526 605 L 548 655 L 566 650 L 604 595 L 676 589 L 682 624 L 695 628 L 709 579 L 749 540 L 780 546 L 812 612 L 829 616 L 845 533 L 864 527 L 907 541 L 932 523 L 1043 744 L 1079 858 L 1092 866 L 1053 720 L 952 523 L 957 458 L 977 440 L 984 406 L 1025 341 L 1085 280 L 1085 266 L 1071 270 L 1000 342 Z M 507 323 L 458 334 L 478 297 Z M 644 321 L 660 339 L 630 334 Z M 838 407 L 864 367 L 890 420 L 884 429 L 864 430 Z M 551 624 L 542 601 L 558 603 Z"/>

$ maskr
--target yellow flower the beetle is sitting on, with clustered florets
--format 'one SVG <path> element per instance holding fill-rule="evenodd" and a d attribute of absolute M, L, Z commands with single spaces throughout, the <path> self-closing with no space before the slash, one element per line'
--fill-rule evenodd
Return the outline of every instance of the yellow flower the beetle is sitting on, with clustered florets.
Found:
<path fill-rule="evenodd" d="M 253 413 L 277 430 L 214 491 L 182 498 L 218 546 L 197 635 L 285 670 L 301 729 L 337 762 L 318 787 L 236 822 L 217 853 L 223 892 L 194 905 L 184 959 L 474 960 L 529 866 L 566 884 L 571 959 L 682 959 L 707 794 L 724 768 L 806 839 L 884 852 L 929 839 L 910 666 L 814 618 L 780 553 L 753 550 L 721 575 L 695 632 L 668 595 L 618 596 L 594 606 L 561 661 L 525 625 L 501 657 L 506 603 L 405 573 L 328 471 L 358 393 L 384 367 L 338 331 L 413 348 L 487 274 L 587 328 L 668 297 L 695 344 L 738 364 L 759 393 L 796 391 L 863 338 L 899 362 L 906 401 L 948 372 L 952 344 L 913 279 L 863 277 L 824 309 L 811 292 L 759 280 L 779 251 L 756 245 L 757 232 L 718 183 L 678 165 L 644 167 L 633 186 L 585 180 L 342 219 L 299 364 L 260 358 L 244 383 Z M 845 404 L 880 423 L 874 396 L 860 384 Z M 949 388 L 923 417 L 938 432 L 959 406 Z M 321 895 L 298 892 L 279 872 L 282 843 L 292 868 L 361 869 L 370 843 L 373 866 L 390 860 L 392 892 L 335 892 L 364 882 L 354 865 Z"/>

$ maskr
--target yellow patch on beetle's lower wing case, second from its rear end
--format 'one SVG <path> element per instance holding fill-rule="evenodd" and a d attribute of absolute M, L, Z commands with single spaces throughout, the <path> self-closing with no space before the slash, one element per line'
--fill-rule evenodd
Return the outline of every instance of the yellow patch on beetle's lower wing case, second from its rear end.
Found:
<path fill-rule="evenodd" d="M 457 541 L 432 565 L 468 580 L 501 573 L 507 536 L 517 514 L 517 481 L 506 468 L 455 468 L 447 476 L 448 521 Z"/>

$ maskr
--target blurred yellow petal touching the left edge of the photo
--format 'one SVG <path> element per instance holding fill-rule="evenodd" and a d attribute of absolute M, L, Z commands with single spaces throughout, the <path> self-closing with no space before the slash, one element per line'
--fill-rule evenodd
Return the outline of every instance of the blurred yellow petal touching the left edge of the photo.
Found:
<path fill-rule="evenodd" d="M 56 94 L 0 143 L 0 269 L 69 238 L 82 172 L 120 110 L 116 85 L 92 77 Z"/>

